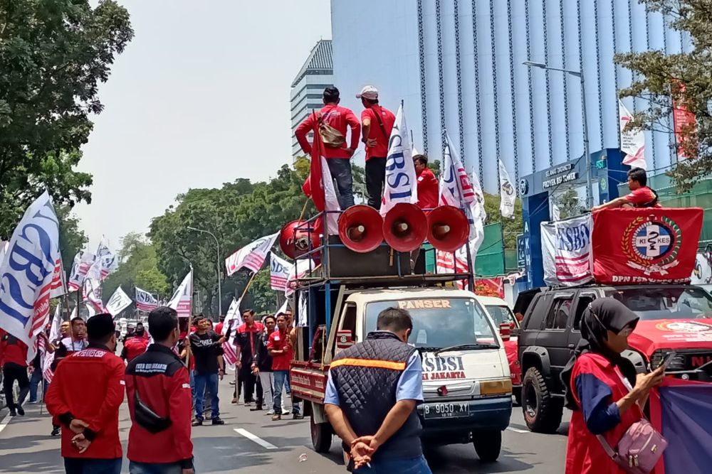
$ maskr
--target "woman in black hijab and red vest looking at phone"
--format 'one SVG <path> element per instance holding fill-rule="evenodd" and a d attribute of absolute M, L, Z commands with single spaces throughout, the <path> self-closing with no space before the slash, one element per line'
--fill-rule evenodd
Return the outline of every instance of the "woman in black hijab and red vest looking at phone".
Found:
<path fill-rule="evenodd" d="M 561 374 L 566 406 L 573 411 L 567 474 L 625 472 L 609 458 L 597 435 L 615 449 L 627 429 L 643 418 L 650 389 L 662 382 L 664 367 L 636 375 L 632 362 L 621 357 L 638 319 L 614 298 L 599 298 L 583 313 L 580 343 Z"/>

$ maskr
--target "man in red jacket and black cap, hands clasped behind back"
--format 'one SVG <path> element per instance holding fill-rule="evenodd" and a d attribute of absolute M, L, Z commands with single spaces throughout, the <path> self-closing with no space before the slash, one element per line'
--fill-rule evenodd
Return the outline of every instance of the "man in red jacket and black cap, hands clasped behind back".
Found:
<path fill-rule="evenodd" d="M 45 400 L 55 424 L 63 424 L 67 474 L 121 472 L 119 407 L 124 401 L 124 361 L 114 355 L 110 314 L 87 321 L 88 348 L 57 365 Z"/>

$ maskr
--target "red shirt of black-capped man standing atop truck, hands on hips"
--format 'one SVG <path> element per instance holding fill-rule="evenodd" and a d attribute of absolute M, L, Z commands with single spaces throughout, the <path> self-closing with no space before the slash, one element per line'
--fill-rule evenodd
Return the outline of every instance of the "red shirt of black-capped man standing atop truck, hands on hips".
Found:
<path fill-rule="evenodd" d="M 321 117 L 323 117 L 323 120 L 327 124 L 340 131 L 344 138 L 346 138 L 346 130 L 349 127 L 351 128 L 351 144 L 346 146 L 348 142 L 345 142 L 341 148 L 324 146 L 324 157 L 350 158 L 346 149 L 350 148 L 355 150 L 358 148 L 358 139 L 361 136 L 361 122 L 358 121 L 351 109 L 335 104 L 325 105 L 316 114 L 309 114 L 309 117 L 299 124 L 294 131 L 294 136 L 297 137 L 297 141 L 304 150 L 304 153 L 311 155 L 311 144 L 307 139 L 307 134 L 314 129 L 314 122 L 318 120 L 319 114 L 321 114 Z"/>

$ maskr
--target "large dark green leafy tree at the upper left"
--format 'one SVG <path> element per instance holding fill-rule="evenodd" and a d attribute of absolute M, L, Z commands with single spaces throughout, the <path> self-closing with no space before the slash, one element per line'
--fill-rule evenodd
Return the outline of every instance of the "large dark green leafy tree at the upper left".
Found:
<path fill-rule="evenodd" d="M 90 202 L 92 178 L 74 168 L 132 36 L 112 0 L 0 1 L 0 235 L 45 188 L 56 205 Z"/>

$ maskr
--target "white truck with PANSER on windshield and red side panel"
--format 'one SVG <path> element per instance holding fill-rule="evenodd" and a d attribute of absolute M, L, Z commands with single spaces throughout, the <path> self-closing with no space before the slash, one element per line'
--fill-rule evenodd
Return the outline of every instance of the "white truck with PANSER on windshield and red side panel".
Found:
<path fill-rule="evenodd" d="M 409 344 L 422 358 L 422 438 L 431 445 L 473 443 L 481 460 L 496 460 L 512 411 L 511 375 L 498 325 L 474 293 L 445 286 L 342 286 L 338 293 L 329 334 L 318 329 L 310 354 L 298 356 L 291 372 L 293 393 L 310 405 L 315 450 L 328 451 L 333 434 L 323 409 L 328 364 L 376 330 L 381 311 L 397 307 L 413 318 Z"/>

